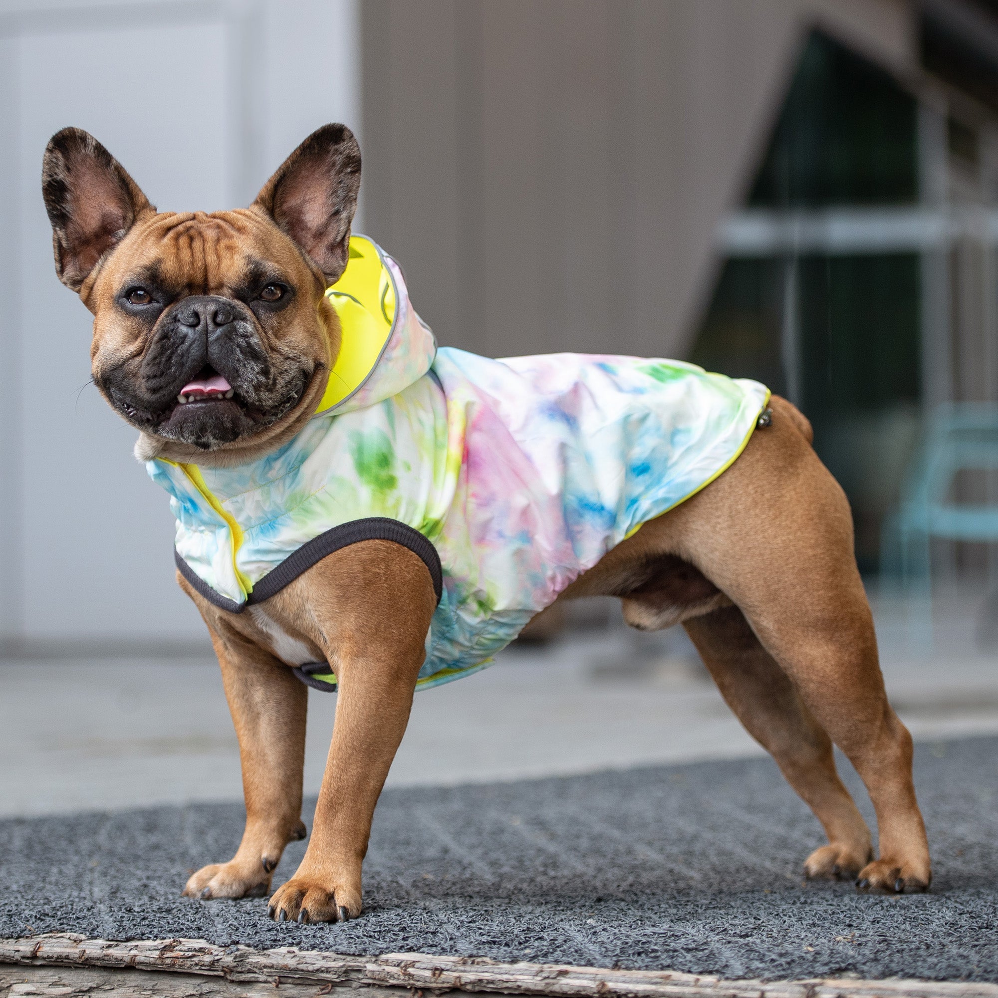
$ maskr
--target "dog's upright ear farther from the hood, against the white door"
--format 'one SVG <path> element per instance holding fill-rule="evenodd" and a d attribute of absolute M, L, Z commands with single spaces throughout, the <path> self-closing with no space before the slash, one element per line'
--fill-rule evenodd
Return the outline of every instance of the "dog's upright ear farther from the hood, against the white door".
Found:
<path fill-rule="evenodd" d="M 52 223 L 56 273 L 74 291 L 140 214 L 156 211 L 121 164 L 78 128 L 57 132 L 45 147 L 42 196 Z"/>

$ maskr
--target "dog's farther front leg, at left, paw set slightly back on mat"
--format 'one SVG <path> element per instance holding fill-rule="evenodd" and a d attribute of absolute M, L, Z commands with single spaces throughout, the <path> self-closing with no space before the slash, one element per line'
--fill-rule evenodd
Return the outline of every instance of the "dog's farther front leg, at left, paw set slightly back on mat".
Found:
<path fill-rule="evenodd" d="M 236 855 L 202 867 L 184 893 L 263 897 L 284 846 L 305 836 L 301 778 L 308 690 L 272 655 L 205 616 L 240 740 L 247 824 Z"/>

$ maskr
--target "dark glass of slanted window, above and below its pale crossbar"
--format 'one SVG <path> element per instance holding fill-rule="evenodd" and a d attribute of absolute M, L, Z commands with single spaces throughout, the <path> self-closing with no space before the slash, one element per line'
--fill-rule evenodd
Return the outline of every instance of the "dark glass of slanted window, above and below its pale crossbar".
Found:
<path fill-rule="evenodd" d="M 917 108 L 886 73 L 826 35 L 807 41 L 747 198 L 773 213 L 917 200 Z M 920 265 L 914 253 L 729 258 L 692 359 L 765 382 L 814 426 L 845 489 L 860 569 L 917 438 Z"/>

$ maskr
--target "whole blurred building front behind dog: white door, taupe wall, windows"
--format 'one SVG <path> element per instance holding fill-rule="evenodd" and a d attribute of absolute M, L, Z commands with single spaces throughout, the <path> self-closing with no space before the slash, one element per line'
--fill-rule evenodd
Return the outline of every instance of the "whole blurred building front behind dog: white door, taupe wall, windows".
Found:
<path fill-rule="evenodd" d="M 0 0 L 0 95 L 0 649 L 204 640 L 54 276 L 38 172 L 67 124 L 211 210 L 346 121 L 358 229 L 442 343 L 766 381 L 869 572 L 923 413 L 998 400 L 985 0 Z"/>

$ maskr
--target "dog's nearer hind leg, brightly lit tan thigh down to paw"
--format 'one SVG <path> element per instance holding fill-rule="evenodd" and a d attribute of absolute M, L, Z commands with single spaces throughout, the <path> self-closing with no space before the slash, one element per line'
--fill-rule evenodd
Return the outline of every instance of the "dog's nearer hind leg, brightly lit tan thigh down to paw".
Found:
<path fill-rule="evenodd" d="M 773 399 L 772 425 L 753 434 L 733 467 L 678 507 L 663 530 L 672 532 L 673 550 L 741 608 L 866 785 L 880 857 L 860 870 L 857 886 L 925 890 L 931 867 L 911 736 L 887 702 L 849 506 L 784 418 L 786 404 Z M 655 540 L 650 535 L 646 543 Z"/>

